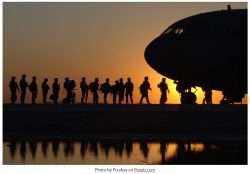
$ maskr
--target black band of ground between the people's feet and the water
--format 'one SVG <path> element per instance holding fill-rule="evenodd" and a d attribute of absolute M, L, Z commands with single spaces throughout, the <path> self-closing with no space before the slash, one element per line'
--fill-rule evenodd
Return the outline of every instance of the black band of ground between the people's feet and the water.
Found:
<path fill-rule="evenodd" d="M 3 105 L 3 138 L 247 140 L 247 105 Z"/>

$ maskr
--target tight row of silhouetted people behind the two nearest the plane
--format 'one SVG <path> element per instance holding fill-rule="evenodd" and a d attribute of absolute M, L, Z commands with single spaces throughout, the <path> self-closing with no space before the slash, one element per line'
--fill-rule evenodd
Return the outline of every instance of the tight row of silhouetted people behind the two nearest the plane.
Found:
<path fill-rule="evenodd" d="M 36 77 L 32 77 L 32 82 L 30 84 L 26 81 L 26 75 L 22 75 L 22 78 L 20 80 L 19 86 L 17 82 L 15 81 L 16 77 L 11 77 L 11 81 L 9 83 L 9 88 L 11 92 L 11 103 L 14 104 L 17 100 L 17 91 L 20 94 L 21 88 L 21 104 L 25 104 L 25 97 L 26 97 L 26 90 L 29 89 L 31 93 L 31 101 L 32 104 L 36 104 L 36 98 L 38 95 L 38 86 L 36 82 Z M 62 103 L 64 104 L 74 104 L 76 93 L 74 92 L 76 87 L 76 83 L 74 80 L 70 80 L 69 77 L 65 77 L 65 81 L 63 83 L 63 94 L 65 93 L 66 97 L 63 98 Z M 47 103 L 47 96 L 50 90 L 50 87 L 48 85 L 48 78 L 44 78 L 42 84 L 42 100 L 43 104 Z M 126 94 L 126 104 L 130 103 L 133 104 L 133 90 L 134 90 L 134 84 L 131 82 L 131 78 L 128 78 L 127 82 L 123 83 L 123 78 L 120 78 L 120 80 L 116 80 L 114 85 L 111 85 L 109 83 L 109 78 L 106 79 L 106 82 L 103 84 L 99 84 L 99 78 L 95 78 L 93 82 L 91 82 L 89 85 L 86 82 L 86 78 L 82 77 L 82 81 L 80 83 L 80 89 L 82 92 L 81 96 L 81 103 L 87 103 L 88 100 L 88 92 L 93 94 L 93 103 L 98 104 L 99 103 L 99 93 L 103 93 L 103 100 L 104 104 L 108 104 L 107 97 L 108 94 L 111 94 L 113 96 L 113 104 L 117 103 L 117 96 L 118 96 L 118 103 L 122 104 L 124 101 L 124 96 Z M 58 83 L 58 78 L 54 79 L 54 82 L 52 84 L 52 93 L 49 97 L 50 100 L 53 101 L 54 104 L 58 103 L 59 99 L 59 92 L 60 92 L 60 84 Z"/>

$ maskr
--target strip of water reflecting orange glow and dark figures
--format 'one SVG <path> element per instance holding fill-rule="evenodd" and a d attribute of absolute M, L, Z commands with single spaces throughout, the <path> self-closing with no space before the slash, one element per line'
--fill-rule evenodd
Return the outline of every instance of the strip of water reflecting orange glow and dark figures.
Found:
<path fill-rule="evenodd" d="M 12 140 L 3 146 L 4 164 L 247 164 L 246 141 Z"/>

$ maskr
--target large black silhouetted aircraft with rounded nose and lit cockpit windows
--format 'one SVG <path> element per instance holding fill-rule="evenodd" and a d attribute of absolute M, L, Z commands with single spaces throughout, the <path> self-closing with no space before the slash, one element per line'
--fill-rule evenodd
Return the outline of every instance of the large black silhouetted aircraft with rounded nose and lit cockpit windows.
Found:
<path fill-rule="evenodd" d="M 182 103 L 195 103 L 186 91 L 193 86 L 222 91 L 221 103 L 240 102 L 247 93 L 247 9 L 228 6 L 184 18 L 147 46 L 145 59 L 182 84 Z"/>

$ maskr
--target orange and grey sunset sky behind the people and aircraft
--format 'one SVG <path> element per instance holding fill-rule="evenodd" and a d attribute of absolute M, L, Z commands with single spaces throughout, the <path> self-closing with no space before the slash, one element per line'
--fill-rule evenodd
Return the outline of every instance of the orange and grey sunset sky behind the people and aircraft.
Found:
<path fill-rule="evenodd" d="M 61 101 L 65 96 L 62 84 L 66 76 L 76 80 L 79 102 L 79 84 L 85 76 L 88 83 L 95 77 L 103 83 L 109 77 L 112 84 L 120 77 L 125 81 L 131 77 L 135 85 L 134 103 L 139 103 L 139 85 L 144 76 L 149 76 L 153 89 L 149 92 L 150 101 L 159 103 L 157 84 L 163 76 L 146 63 L 146 46 L 174 22 L 226 9 L 228 4 L 232 9 L 247 8 L 247 2 L 4 2 L 3 102 L 10 103 L 10 77 L 16 76 L 19 83 L 21 75 L 27 74 L 28 83 L 32 76 L 37 76 L 38 102 L 41 102 L 41 83 L 45 77 L 50 86 L 55 77 L 59 78 Z M 170 87 L 167 103 L 180 103 L 176 85 L 170 79 L 167 83 Z M 196 94 L 197 102 L 202 103 L 204 93 L 198 88 Z M 100 102 L 102 98 L 100 94 Z M 221 98 L 220 91 L 213 91 L 213 103 L 219 103 Z M 247 95 L 243 101 L 247 103 Z M 30 102 L 27 92 L 26 103 Z M 91 94 L 88 102 L 92 102 Z"/>

